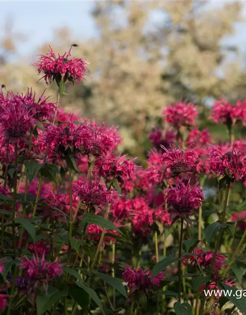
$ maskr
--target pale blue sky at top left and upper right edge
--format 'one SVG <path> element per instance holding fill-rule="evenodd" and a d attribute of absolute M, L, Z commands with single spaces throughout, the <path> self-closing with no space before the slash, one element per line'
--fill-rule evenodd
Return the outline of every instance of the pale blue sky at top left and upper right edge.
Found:
<path fill-rule="evenodd" d="M 148 1 L 148 0 L 146 0 Z M 165 0 L 163 0 L 165 1 Z M 211 0 L 217 6 L 228 0 Z M 68 27 L 76 38 L 87 39 L 96 35 L 91 16 L 93 0 L 0 0 L 0 38 L 5 21 L 13 21 L 13 33 L 23 33 L 25 41 L 19 43 L 20 56 L 28 56 L 37 46 L 51 41 L 53 31 Z M 246 19 L 246 0 L 244 16 Z M 236 25 L 236 35 L 227 38 L 227 44 L 236 44 L 246 52 L 246 23 Z"/>

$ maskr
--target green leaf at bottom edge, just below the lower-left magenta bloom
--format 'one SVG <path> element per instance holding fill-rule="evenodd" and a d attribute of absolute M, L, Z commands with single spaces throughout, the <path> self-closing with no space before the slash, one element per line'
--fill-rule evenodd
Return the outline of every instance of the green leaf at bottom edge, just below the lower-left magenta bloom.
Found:
<path fill-rule="evenodd" d="M 38 295 L 36 298 L 37 315 L 43 315 L 46 311 L 51 310 L 54 304 L 60 301 L 62 297 L 66 297 L 67 294 L 67 289 L 63 289 L 62 291 L 55 291 L 52 294 Z"/>

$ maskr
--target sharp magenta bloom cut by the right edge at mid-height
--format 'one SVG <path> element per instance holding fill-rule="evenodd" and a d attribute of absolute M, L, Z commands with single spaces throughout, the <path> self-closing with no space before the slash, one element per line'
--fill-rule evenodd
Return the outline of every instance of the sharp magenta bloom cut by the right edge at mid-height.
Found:
<path fill-rule="evenodd" d="M 209 170 L 216 175 L 230 175 L 240 180 L 246 176 L 246 153 L 228 146 L 211 146 L 208 158 Z"/>

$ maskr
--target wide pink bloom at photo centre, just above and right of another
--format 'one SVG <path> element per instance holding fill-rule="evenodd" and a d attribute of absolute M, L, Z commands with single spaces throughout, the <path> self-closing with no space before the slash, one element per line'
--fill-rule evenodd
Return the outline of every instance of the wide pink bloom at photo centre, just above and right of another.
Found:
<path fill-rule="evenodd" d="M 136 164 L 134 159 L 127 159 L 126 155 L 116 158 L 114 154 L 110 154 L 96 159 L 93 172 L 107 180 L 116 178 L 124 181 L 135 177 Z"/>

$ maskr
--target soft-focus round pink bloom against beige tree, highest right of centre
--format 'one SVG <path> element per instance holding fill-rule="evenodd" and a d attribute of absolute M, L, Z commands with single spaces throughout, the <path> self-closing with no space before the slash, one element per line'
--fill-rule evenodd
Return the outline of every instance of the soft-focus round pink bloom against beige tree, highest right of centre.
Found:
<path fill-rule="evenodd" d="M 173 105 L 168 105 L 162 111 L 164 121 L 179 129 L 181 126 L 194 126 L 195 119 L 198 117 L 197 109 L 194 104 L 180 102 Z"/>

